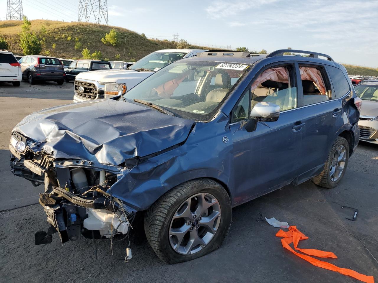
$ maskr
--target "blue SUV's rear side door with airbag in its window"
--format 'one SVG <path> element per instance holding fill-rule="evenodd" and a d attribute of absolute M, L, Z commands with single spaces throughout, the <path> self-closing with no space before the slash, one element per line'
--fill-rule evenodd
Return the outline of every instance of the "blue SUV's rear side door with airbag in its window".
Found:
<path fill-rule="evenodd" d="M 322 170 L 338 129 L 342 127 L 342 103 L 337 100 L 328 72 L 319 63 L 298 62 L 299 95 L 303 107 L 298 111 L 305 123 L 301 150 L 302 179 L 312 177 Z"/>

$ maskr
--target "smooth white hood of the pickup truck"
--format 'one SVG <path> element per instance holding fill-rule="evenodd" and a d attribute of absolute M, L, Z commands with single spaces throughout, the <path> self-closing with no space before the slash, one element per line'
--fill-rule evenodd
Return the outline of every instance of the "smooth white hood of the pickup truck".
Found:
<path fill-rule="evenodd" d="M 100 70 L 100 71 L 90 71 L 82 72 L 76 76 L 77 79 L 93 80 L 96 82 L 106 82 L 106 83 L 116 83 L 122 78 L 140 78 L 141 80 L 149 77 L 154 72 L 138 72 L 132 70 Z"/>

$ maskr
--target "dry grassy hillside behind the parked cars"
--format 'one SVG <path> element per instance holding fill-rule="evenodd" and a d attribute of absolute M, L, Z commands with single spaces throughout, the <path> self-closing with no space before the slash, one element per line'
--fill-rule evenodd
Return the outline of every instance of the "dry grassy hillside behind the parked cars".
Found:
<path fill-rule="evenodd" d="M 176 42 L 169 40 L 148 39 L 136 32 L 115 26 L 50 20 L 32 20 L 31 23 L 31 31 L 36 32 L 43 41 L 41 54 L 46 55 L 47 51 L 50 56 L 60 58 L 81 58 L 81 51 L 88 48 L 91 53 L 96 50 L 101 51 L 102 57 L 109 60 L 116 60 L 117 54 L 120 55 L 120 60 L 122 60 L 125 54 L 125 61 L 136 61 L 153 51 L 176 48 L 177 45 Z M 21 24 L 21 21 L 0 21 L 0 35 L 6 38 L 10 45 L 9 49 L 14 54 L 22 54 L 18 35 L 21 32 Z M 118 32 L 119 43 L 116 46 L 104 45 L 101 38 L 112 28 Z M 80 45 L 77 49 L 75 49 L 76 38 L 78 38 Z M 54 43 L 56 44 L 55 49 L 52 48 Z M 205 49 L 204 46 L 192 46 L 192 48 Z M 378 76 L 378 69 L 354 65 L 344 66 L 351 75 Z"/>

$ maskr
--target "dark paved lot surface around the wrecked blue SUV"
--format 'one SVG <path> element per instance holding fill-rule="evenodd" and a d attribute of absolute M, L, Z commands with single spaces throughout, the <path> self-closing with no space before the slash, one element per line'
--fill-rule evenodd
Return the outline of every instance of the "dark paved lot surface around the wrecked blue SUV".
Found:
<path fill-rule="evenodd" d="M 93 240 L 85 238 L 62 247 L 54 234 L 50 245 L 35 246 L 34 233 L 48 228 L 42 207 L 31 205 L 43 188 L 9 172 L 10 131 L 30 112 L 70 103 L 72 89 L 70 83 L 0 85 L 0 282 L 359 282 L 312 266 L 283 249 L 275 237 L 278 229 L 256 221 L 260 212 L 296 225 L 309 237 L 300 248 L 332 251 L 338 259 L 325 261 L 378 280 L 378 263 L 372 257 L 378 259 L 378 146 L 368 143 L 360 143 L 335 189 L 307 181 L 234 208 L 223 246 L 197 260 L 161 263 L 138 219 L 130 236 L 129 263 L 122 260 L 125 241 L 113 245 L 112 255 L 110 242 L 98 240 L 98 261 Z M 345 219 L 353 211 L 341 209 L 342 205 L 359 209 L 355 222 Z"/>

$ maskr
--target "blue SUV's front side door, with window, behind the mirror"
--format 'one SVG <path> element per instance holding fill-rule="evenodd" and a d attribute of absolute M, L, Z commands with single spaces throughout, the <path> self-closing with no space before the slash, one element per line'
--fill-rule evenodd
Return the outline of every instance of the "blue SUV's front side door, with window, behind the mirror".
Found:
<path fill-rule="evenodd" d="M 294 65 L 270 67 L 265 71 L 256 78 L 258 84 L 254 82 L 245 91 L 232 111 L 235 205 L 291 183 L 301 166 L 305 125 L 296 115 Z M 277 77 L 276 72 L 281 75 Z M 271 75 L 267 76 L 268 73 Z M 264 101 L 279 105 L 280 117 L 275 122 L 258 122 L 256 131 L 247 132 L 243 125 L 250 110 L 246 109 Z"/>

